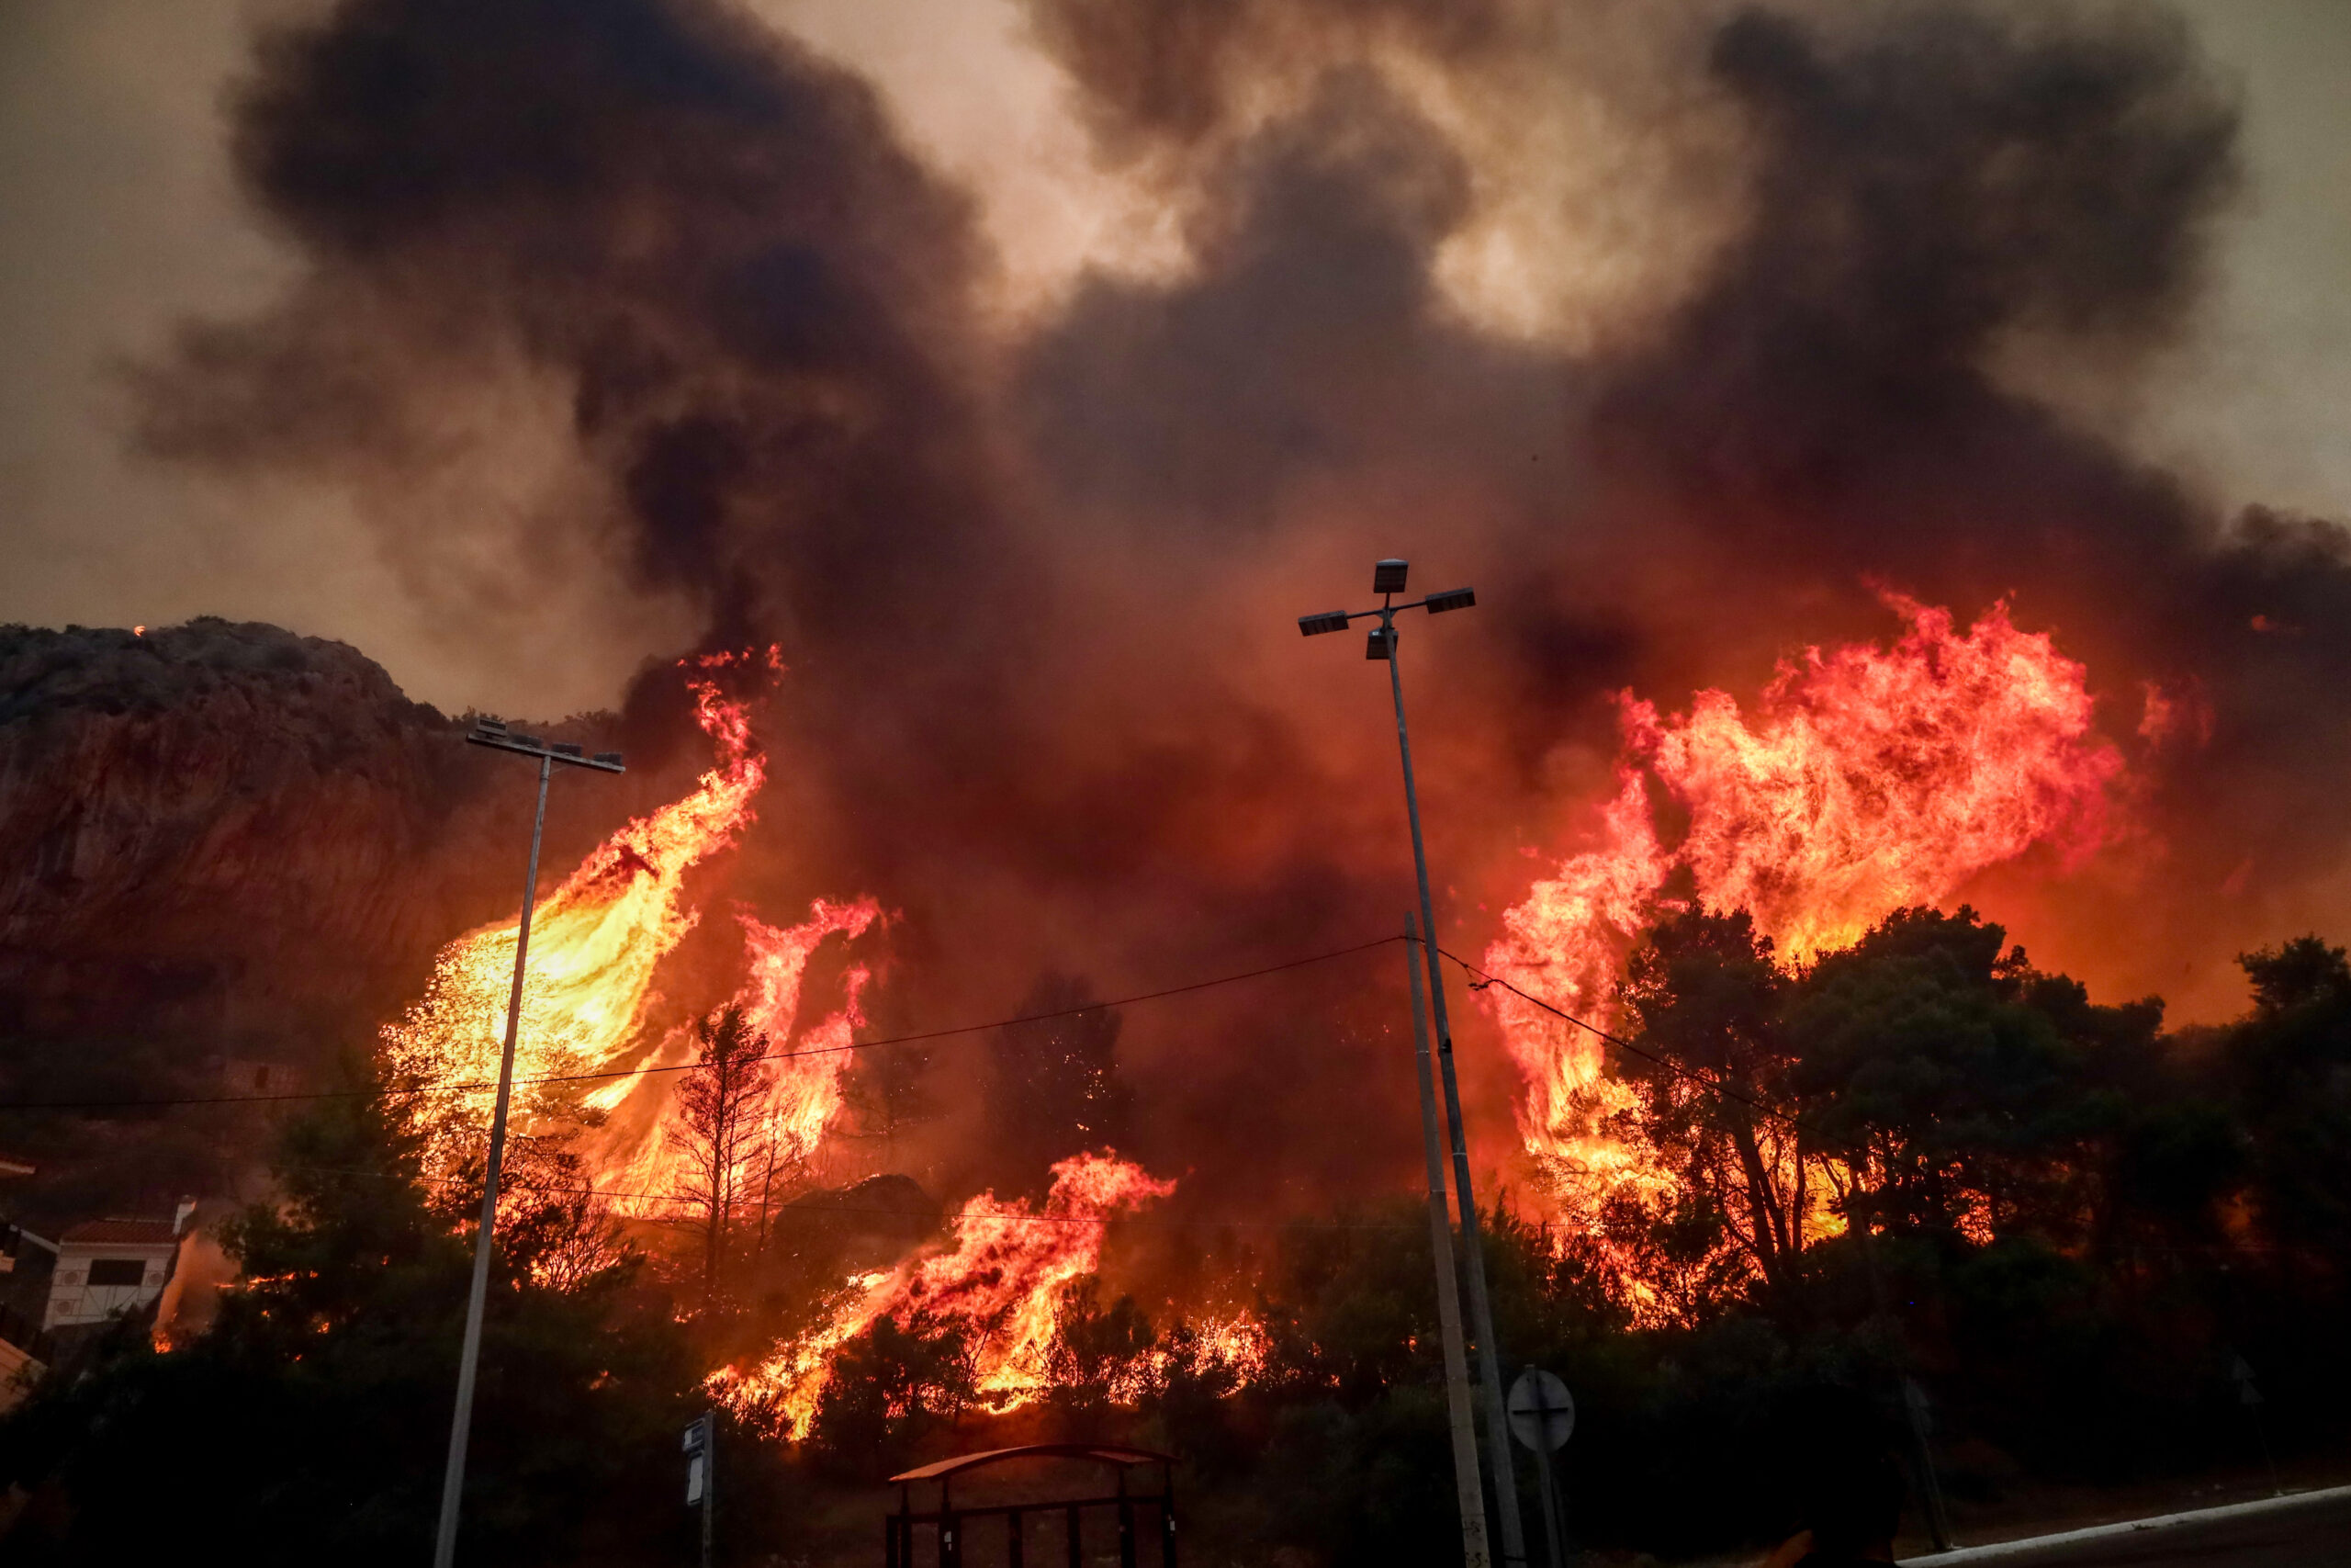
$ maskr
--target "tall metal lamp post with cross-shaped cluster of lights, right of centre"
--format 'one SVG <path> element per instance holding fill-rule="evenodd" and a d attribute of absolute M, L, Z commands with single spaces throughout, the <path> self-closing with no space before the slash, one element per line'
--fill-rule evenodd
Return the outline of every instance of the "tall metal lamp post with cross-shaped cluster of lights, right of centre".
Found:
<path fill-rule="evenodd" d="M 1387 689 L 1396 701 L 1396 755 L 1404 759 L 1404 813 L 1413 825 L 1413 872 L 1420 879 L 1420 929 L 1427 933 L 1422 957 L 1429 966 L 1429 1013 L 1436 1020 L 1436 1063 L 1446 1088 L 1446 1121 L 1453 1128 L 1453 1197 L 1460 1208 L 1462 1251 L 1469 1274 L 1469 1316 L 1476 1326 L 1479 1385 L 1486 1389 L 1486 1453 L 1493 1460 L 1493 1490 L 1502 1519 L 1502 1561 L 1526 1563 L 1526 1521 L 1519 1516 L 1516 1467 L 1509 1460 L 1509 1425 L 1502 1410 L 1502 1347 L 1493 1335 L 1493 1300 L 1486 1291 L 1486 1244 L 1479 1234 L 1476 1197 L 1469 1187 L 1469 1140 L 1462 1133 L 1462 1098 L 1453 1074 L 1453 1025 L 1446 1020 L 1446 985 L 1436 969 L 1436 907 L 1429 900 L 1429 853 L 1420 842 L 1420 795 L 1413 788 L 1413 741 L 1404 726 L 1404 675 L 1396 665 L 1396 616 L 1406 609 L 1425 609 L 1441 616 L 1448 609 L 1469 609 L 1476 592 L 1451 588 L 1432 592 L 1411 604 L 1396 604 L 1404 592 L 1408 564 L 1399 559 L 1378 562 L 1371 569 L 1371 590 L 1380 595 L 1380 609 L 1333 609 L 1319 616 L 1298 616 L 1305 637 L 1345 632 L 1349 621 L 1378 616 L 1364 658 L 1387 661 Z M 1418 1011 L 1418 1009 L 1415 1009 Z"/>

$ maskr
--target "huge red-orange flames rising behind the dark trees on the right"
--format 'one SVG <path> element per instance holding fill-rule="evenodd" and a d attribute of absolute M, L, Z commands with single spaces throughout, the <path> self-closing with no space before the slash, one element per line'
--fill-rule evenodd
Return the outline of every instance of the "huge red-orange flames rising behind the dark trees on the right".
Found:
<path fill-rule="evenodd" d="M 1961 635 L 1944 609 L 1886 602 L 1907 623 L 1893 646 L 1782 661 L 1751 719 L 1723 691 L 1672 717 L 1625 693 L 1599 844 L 1502 917 L 1486 966 L 1608 1027 L 1625 952 L 1693 898 L 1749 910 L 1803 961 L 2036 844 L 2092 851 L 2123 759 L 2092 731 L 2083 665 L 2020 632 L 2005 604 Z M 1688 823 L 1674 842 L 1662 806 Z M 1599 1044 L 1507 992 L 1488 999 L 1528 1084 L 1521 1135 L 1554 1192 L 1587 1208 L 1650 1185 L 1636 1152 L 1594 1131 L 1625 1105 Z"/>

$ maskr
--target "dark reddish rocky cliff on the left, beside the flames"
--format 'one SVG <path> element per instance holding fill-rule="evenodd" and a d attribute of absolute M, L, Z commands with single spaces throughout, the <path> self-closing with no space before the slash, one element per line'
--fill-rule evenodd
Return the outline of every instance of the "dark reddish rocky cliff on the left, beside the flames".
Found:
<path fill-rule="evenodd" d="M 531 788 L 501 762 L 341 642 L 0 628 L 0 1032 L 364 1039 L 520 893 Z M 557 865 L 635 804 L 564 795 Z"/>

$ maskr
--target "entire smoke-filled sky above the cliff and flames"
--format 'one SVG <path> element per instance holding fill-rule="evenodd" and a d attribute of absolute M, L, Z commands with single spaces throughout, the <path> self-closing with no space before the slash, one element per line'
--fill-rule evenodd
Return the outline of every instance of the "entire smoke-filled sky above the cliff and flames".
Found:
<path fill-rule="evenodd" d="M 1984 889 L 2036 957 L 2212 1016 L 2351 912 L 2342 7 L 0 28 L 0 618 L 270 618 L 654 748 L 647 661 L 773 639 L 743 882 L 905 910 L 938 1006 L 1394 929 L 1385 693 L 1291 623 L 1380 555 L 1481 597 L 1406 642 L 1465 945 L 1589 830 L 1613 691 L 1751 698 L 1878 588 L 2008 597 L 2130 755 L 2114 853 Z M 1168 1114 L 1279 1121 L 1267 1060 Z"/>

